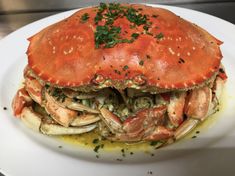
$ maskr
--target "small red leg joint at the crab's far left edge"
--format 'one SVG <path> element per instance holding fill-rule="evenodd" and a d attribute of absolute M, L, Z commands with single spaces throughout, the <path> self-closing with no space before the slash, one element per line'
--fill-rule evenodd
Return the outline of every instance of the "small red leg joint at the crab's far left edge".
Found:
<path fill-rule="evenodd" d="M 24 107 L 30 106 L 32 103 L 33 101 L 28 92 L 24 88 L 19 89 L 12 101 L 14 115 L 20 117 Z"/>

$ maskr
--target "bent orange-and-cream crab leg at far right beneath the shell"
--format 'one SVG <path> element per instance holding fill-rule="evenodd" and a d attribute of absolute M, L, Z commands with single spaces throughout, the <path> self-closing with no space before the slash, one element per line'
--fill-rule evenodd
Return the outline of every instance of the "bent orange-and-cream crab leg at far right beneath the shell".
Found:
<path fill-rule="evenodd" d="M 205 86 L 190 92 L 184 107 L 184 113 L 188 119 L 176 129 L 174 134 L 176 140 L 188 134 L 201 121 L 217 111 L 218 99 L 221 96 L 224 83 L 225 80 L 217 76 L 212 89 Z"/>

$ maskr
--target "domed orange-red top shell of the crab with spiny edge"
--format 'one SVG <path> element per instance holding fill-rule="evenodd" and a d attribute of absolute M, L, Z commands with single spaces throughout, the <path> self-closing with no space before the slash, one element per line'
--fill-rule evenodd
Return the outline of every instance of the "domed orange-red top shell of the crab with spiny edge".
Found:
<path fill-rule="evenodd" d="M 203 85 L 218 72 L 222 42 L 207 31 L 166 9 L 125 6 L 141 8 L 141 13 L 148 15 L 152 22 L 148 32 L 152 35 L 142 33 L 133 43 L 97 49 L 97 7 L 82 9 L 29 38 L 27 55 L 32 72 L 61 87 L 105 83 L 106 87 L 127 88 L 135 83 L 159 89 L 190 89 Z M 82 23 L 85 13 L 89 19 Z M 132 29 L 131 24 L 126 18 L 114 22 L 121 27 L 121 36 L 128 39 L 133 33 L 143 32 L 143 25 Z M 154 37 L 160 33 L 163 38 Z"/>

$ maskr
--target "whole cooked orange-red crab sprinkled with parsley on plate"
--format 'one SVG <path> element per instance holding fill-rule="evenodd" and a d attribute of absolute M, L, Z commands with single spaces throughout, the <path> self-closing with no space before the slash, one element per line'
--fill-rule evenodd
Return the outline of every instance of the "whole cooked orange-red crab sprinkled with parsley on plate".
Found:
<path fill-rule="evenodd" d="M 218 110 L 221 41 L 174 13 L 101 3 L 29 39 L 14 115 L 47 135 L 175 141 Z"/>

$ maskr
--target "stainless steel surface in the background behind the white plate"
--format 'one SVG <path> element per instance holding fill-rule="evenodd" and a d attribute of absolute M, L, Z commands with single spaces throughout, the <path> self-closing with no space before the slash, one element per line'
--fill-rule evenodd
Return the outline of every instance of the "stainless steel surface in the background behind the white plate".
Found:
<path fill-rule="evenodd" d="M 122 2 L 118 1 L 118 2 Z M 100 1 L 76 1 L 76 0 L 1 0 L 0 1 L 0 39 L 18 28 L 41 18 L 84 6 L 96 5 Z M 111 1 L 110 1 L 111 2 Z M 154 0 L 125 2 L 147 2 L 156 4 Z M 179 7 L 205 12 L 235 24 L 235 2 L 219 0 L 161 0 L 158 4 L 170 4 Z"/>

